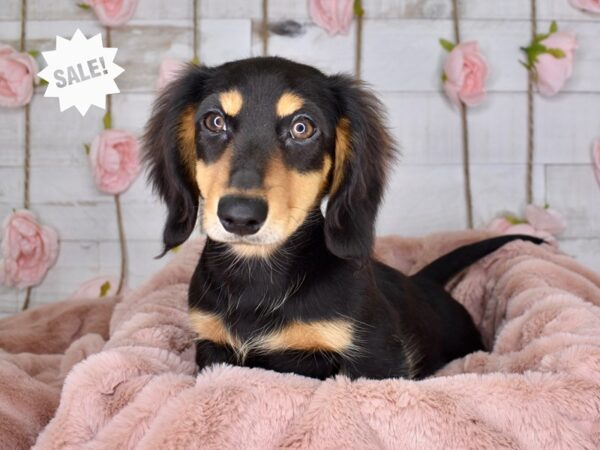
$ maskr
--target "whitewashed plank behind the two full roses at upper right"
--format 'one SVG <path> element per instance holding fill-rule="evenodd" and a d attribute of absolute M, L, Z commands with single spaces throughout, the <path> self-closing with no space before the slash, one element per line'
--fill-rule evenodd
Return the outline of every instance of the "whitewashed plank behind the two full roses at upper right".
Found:
<path fill-rule="evenodd" d="M 489 91 L 527 90 L 527 72 L 518 61 L 522 59 L 519 48 L 529 42 L 528 26 L 525 21 L 478 20 L 463 24 L 463 41 L 476 39 L 490 63 Z M 548 26 L 549 22 L 541 22 L 540 30 Z M 577 22 L 564 29 L 576 30 L 579 49 L 573 78 L 563 92 L 600 92 L 597 24 Z M 366 20 L 363 78 L 380 91 L 439 91 L 445 51 L 438 39 L 452 40 L 452 36 L 452 24 L 447 20 Z"/>

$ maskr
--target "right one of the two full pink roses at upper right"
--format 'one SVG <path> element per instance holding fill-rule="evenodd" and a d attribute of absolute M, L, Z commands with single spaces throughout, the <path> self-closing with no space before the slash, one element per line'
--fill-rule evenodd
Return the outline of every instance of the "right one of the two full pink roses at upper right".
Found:
<path fill-rule="evenodd" d="M 577 48 L 574 33 L 558 31 L 540 42 L 547 49 L 559 49 L 564 52 L 562 58 L 550 53 L 542 53 L 535 61 L 535 73 L 540 94 L 552 96 L 562 88 L 573 74 L 573 52 Z"/>

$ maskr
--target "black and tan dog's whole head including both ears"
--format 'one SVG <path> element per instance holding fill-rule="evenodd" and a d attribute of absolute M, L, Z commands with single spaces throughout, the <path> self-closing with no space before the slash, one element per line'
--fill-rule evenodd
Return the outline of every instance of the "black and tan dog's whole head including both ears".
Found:
<path fill-rule="evenodd" d="M 392 140 L 379 102 L 347 76 L 280 58 L 190 66 L 157 100 L 146 160 L 169 213 L 165 251 L 193 231 L 268 256 L 329 196 L 325 236 L 370 254 Z"/>

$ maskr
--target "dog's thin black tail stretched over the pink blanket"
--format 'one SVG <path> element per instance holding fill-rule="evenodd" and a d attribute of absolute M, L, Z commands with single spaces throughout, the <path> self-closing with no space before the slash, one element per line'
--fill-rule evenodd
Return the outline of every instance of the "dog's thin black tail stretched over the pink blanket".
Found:
<path fill-rule="evenodd" d="M 529 241 L 538 245 L 545 242 L 543 239 L 523 234 L 509 234 L 486 239 L 484 241 L 464 245 L 450 253 L 446 253 L 444 256 L 440 256 L 435 261 L 423 267 L 414 276 L 424 277 L 440 284 L 446 284 L 453 275 L 469 267 L 484 256 L 498 250 L 504 244 L 516 240 Z"/>

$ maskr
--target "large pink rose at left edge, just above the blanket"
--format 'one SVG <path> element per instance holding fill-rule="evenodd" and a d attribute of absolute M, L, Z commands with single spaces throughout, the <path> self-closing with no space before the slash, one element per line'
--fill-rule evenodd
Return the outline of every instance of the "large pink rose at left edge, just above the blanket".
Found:
<path fill-rule="evenodd" d="M 0 282 L 19 289 L 40 284 L 58 257 L 58 235 L 25 209 L 4 221 Z"/>

